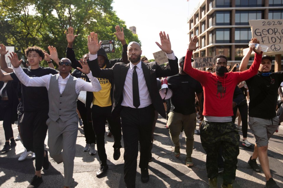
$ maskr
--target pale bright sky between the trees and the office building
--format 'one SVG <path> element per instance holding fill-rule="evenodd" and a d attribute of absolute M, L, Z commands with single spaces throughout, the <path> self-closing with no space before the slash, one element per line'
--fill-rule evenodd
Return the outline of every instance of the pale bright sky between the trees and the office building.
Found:
<path fill-rule="evenodd" d="M 114 0 L 113 10 L 126 22 L 127 28 L 136 26 L 141 41 L 142 55 L 154 59 L 152 53 L 160 51 L 159 32 L 169 34 L 172 50 L 179 59 L 185 56 L 189 43 L 187 18 L 203 0 Z"/>

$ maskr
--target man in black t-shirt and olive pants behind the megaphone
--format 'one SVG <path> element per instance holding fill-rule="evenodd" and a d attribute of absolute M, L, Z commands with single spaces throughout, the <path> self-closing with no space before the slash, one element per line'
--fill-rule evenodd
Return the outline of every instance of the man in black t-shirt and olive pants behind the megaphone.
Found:
<path fill-rule="evenodd" d="M 180 71 L 177 75 L 167 78 L 168 87 L 173 91 L 171 109 L 168 114 L 167 125 L 172 142 L 175 144 L 175 157 L 180 156 L 179 135 L 184 128 L 186 135 L 186 165 L 192 167 L 192 149 L 194 146 L 194 133 L 196 127 L 195 93 L 198 102 L 202 103 L 203 89 L 200 83 L 184 72 L 185 56 L 179 60 Z M 192 60 L 193 61 L 193 60 Z M 202 115 L 202 107 L 200 115 Z"/>

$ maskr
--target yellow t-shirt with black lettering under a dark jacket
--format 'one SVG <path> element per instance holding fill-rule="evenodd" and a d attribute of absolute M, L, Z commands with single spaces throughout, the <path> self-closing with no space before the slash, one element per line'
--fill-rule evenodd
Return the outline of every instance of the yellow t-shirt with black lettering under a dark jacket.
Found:
<path fill-rule="evenodd" d="M 103 67 L 103 69 L 106 67 L 106 65 Z M 109 82 L 108 79 L 104 78 L 97 78 L 100 85 L 101 85 L 101 90 L 97 92 L 93 92 L 93 105 L 98 105 L 100 107 L 106 107 L 106 106 L 111 106 L 111 83 Z"/>

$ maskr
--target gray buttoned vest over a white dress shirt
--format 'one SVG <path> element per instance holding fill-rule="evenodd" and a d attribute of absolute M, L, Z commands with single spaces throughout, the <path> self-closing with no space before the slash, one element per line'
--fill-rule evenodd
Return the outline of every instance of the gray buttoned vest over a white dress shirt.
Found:
<path fill-rule="evenodd" d="M 57 121 L 60 118 L 65 122 L 77 115 L 78 94 L 75 89 L 77 78 L 70 75 L 62 94 L 60 94 L 58 78 L 59 74 L 52 75 L 50 78 L 48 115 L 53 121 Z"/>

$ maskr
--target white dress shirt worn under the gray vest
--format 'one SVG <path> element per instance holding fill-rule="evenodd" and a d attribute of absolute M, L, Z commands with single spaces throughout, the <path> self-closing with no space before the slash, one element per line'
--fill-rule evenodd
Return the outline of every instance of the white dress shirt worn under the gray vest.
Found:
<path fill-rule="evenodd" d="M 49 90 L 50 78 L 52 74 L 44 75 L 41 77 L 29 77 L 24 73 L 21 67 L 14 68 L 14 72 L 19 78 L 19 80 L 22 82 L 22 84 L 24 84 L 25 86 L 34 86 L 34 87 L 43 86 L 46 87 L 47 90 Z M 101 90 L 101 85 L 97 80 L 97 78 L 93 77 L 91 72 L 88 73 L 87 76 L 91 82 L 86 82 L 80 78 L 77 78 L 75 85 L 77 94 L 79 94 L 80 91 L 96 92 Z M 65 79 L 63 79 L 62 76 L 59 74 L 58 85 L 61 94 L 63 93 L 69 78 L 70 75 L 68 75 Z"/>

